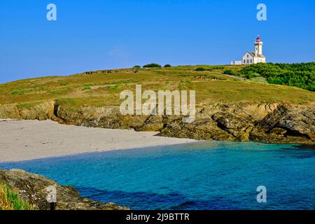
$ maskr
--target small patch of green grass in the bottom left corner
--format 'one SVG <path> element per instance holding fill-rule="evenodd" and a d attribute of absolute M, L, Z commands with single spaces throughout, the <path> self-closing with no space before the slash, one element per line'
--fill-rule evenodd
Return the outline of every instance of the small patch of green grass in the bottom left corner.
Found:
<path fill-rule="evenodd" d="M 0 210 L 36 210 L 36 208 L 22 200 L 11 188 L 0 184 Z"/>

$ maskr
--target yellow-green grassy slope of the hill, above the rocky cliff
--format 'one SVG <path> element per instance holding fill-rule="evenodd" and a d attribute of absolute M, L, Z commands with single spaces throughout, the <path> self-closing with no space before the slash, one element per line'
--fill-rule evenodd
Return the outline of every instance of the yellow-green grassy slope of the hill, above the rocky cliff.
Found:
<path fill-rule="evenodd" d="M 203 69 L 198 69 L 203 68 Z M 0 104 L 28 107 L 48 99 L 73 106 L 118 106 L 122 90 L 196 90 L 198 105 L 216 102 L 315 102 L 315 93 L 297 87 L 240 80 L 224 74 L 244 66 L 174 66 L 170 68 L 88 71 L 73 76 L 49 76 L 0 85 Z M 206 70 L 206 71 L 199 71 Z"/>

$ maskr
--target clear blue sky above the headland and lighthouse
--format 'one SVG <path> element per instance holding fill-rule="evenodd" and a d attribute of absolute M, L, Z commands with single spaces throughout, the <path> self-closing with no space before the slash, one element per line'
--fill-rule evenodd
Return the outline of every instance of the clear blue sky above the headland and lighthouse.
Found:
<path fill-rule="evenodd" d="M 46 20 L 55 3 L 57 21 Z M 258 3 L 267 21 L 256 20 Z M 135 64 L 315 61 L 315 1 L 1 0 L 0 83 Z"/>

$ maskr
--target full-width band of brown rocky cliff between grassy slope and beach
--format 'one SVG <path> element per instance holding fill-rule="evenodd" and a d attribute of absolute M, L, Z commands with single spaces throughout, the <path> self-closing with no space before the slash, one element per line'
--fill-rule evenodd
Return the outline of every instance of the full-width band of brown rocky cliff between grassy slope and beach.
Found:
<path fill-rule="evenodd" d="M 315 143 L 315 104 L 214 104 L 198 111 L 194 123 L 182 123 L 181 116 L 122 116 L 118 107 L 73 107 L 50 102 L 22 110 L 0 106 L 0 118 L 52 119 L 64 124 L 154 131 L 160 136 L 189 139 Z"/>

